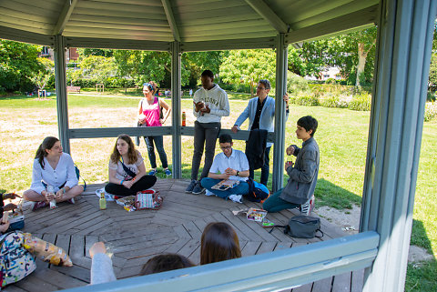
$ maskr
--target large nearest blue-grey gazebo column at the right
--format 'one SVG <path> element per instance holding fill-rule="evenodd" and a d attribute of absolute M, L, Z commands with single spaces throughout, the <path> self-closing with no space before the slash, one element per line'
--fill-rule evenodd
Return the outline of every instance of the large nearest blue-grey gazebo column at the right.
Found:
<path fill-rule="evenodd" d="M 380 234 L 364 291 L 403 291 L 435 0 L 382 0 L 361 231 Z"/>

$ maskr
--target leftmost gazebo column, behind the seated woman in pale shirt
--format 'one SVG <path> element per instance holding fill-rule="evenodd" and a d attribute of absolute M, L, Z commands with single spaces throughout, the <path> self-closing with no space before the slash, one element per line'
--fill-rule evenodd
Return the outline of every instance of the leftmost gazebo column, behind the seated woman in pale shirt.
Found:
<path fill-rule="evenodd" d="M 62 35 L 55 35 L 55 79 L 56 79 L 56 106 L 57 128 L 59 140 L 66 153 L 70 153 L 68 135 L 68 108 L 66 101 L 66 45 Z"/>

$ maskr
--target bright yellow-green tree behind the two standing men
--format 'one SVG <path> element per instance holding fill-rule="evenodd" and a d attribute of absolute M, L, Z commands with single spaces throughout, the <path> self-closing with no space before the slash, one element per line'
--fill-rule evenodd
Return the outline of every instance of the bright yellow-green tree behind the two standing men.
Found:
<path fill-rule="evenodd" d="M 224 82 L 233 84 L 244 83 L 253 87 L 259 79 L 269 79 L 275 86 L 276 55 L 270 49 L 230 51 L 220 65 L 220 76 Z"/>

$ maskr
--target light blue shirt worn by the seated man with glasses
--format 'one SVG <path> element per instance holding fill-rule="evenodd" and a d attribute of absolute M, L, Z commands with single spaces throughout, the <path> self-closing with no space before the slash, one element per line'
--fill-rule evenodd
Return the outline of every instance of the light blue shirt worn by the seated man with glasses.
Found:
<path fill-rule="evenodd" d="M 248 157 L 244 152 L 232 148 L 232 154 L 229 157 L 223 152 L 214 157 L 209 172 L 213 174 L 224 174 L 229 167 L 238 171 L 249 170 Z M 229 176 L 229 179 L 247 181 L 248 177 Z"/>

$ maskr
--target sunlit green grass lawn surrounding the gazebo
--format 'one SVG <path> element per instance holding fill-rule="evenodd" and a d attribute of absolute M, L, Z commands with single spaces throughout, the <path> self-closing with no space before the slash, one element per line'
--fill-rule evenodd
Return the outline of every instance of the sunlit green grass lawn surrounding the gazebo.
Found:
<path fill-rule="evenodd" d="M 137 115 L 138 96 L 68 96 L 69 126 L 107 127 L 132 126 Z M 229 94 L 231 114 L 222 119 L 222 128 L 234 125 L 239 113 L 247 106 L 249 95 Z M 166 99 L 171 106 L 171 99 Z M 187 126 L 194 125 L 192 100 L 183 98 L 182 111 L 187 113 Z M 56 99 L 35 97 L 0 97 L 0 150 L 1 185 L 8 191 L 22 192 L 30 186 L 32 161 L 36 147 L 45 136 L 57 136 Z M 315 138 L 320 146 L 320 174 L 316 189 L 317 206 L 351 208 L 361 204 L 362 184 L 366 158 L 369 112 L 320 106 L 290 105 L 286 125 L 286 146 L 301 144 L 294 134 L 300 116 L 315 116 L 319 128 Z M 169 118 L 166 126 L 171 125 Z M 248 122 L 241 126 L 246 129 Z M 189 178 L 193 153 L 192 137 L 182 137 L 182 176 Z M 107 181 L 108 157 L 115 138 L 71 140 L 71 154 L 81 169 L 87 183 Z M 164 138 L 168 163 L 171 168 L 171 136 Z M 234 147 L 244 150 L 244 142 L 236 141 Z M 412 228 L 412 244 L 426 248 L 435 257 L 437 253 L 437 121 L 423 127 L 422 153 L 417 179 L 417 190 Z M 139 150 L 150 167 L 144 141 Z M 219 153 L 219 147 L 216 152 Z M 271 154 L 272 156 L 272 154 Z M 159 165 L 159 161 L 158 161 Z M 271 166 L 270 166 L 271 167 Z M 158 170 L 162 171 L 162 168 Z M 271 168 L 270 168 L 271 169 Z M 270 172 L 271 173 L 271 172 Z M 255 172 L 259 178 L 259 171 Z M 162 175 L 162 172 L 160 175 Z M 284 182 L 286 177 L 284 177 Z M 271 175 L 269 177 L 271 186 Z M 437 264 L 428 262 L 420 267 L 409 266 L 406 291 L 437 291 L 435 275 Z"/>

